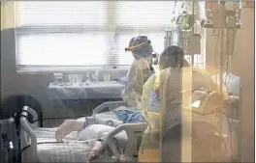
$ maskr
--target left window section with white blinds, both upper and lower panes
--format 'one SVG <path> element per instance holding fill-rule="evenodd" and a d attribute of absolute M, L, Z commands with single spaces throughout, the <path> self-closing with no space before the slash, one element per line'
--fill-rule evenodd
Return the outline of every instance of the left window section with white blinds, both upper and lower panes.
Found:
<path fill-rule="evenodd" d="M 102 1 L 20 1 L 16 5 L 18 69 L 94 67 L 108 61 Z"/>

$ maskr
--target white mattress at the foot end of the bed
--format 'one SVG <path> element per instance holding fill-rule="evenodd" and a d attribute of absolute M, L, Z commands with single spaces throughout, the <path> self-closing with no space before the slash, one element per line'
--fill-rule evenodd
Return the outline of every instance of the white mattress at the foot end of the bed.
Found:
<path fill-rule="evenodd" d="M 93 141 L 77 141 L 78 132 L 72 132 L 63 139 L 64 143 L 40 144 L 56 142 L 56 128 L 36 128 L 39 162 L 87 162 L 87 152 Z"/>

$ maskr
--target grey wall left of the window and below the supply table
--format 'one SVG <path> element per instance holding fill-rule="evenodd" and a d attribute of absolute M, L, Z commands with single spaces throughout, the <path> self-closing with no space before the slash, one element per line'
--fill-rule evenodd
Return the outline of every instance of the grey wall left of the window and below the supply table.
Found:
<path fill-rule="evenodd" d="M 15 39 L 15 1 L 1 5 L 1 98 L 9 95 L 32 95 L 43 105 L 44 117 L 77 116 L 86 114 L 103 100 L 52 101 L 48 98 L 48 84 L 52 74 L 17 74 Z M 112 78 L 120 75 L 112 74 Z M 54 126 L 61 121 L 46 121 L 45 126 Z"/>

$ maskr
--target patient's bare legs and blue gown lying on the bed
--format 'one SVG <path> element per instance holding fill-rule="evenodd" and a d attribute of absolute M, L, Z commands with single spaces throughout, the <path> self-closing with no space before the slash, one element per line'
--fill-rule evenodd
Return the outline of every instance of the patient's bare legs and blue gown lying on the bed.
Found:
<path fill-rule="evenodd" d="M 114 117 L 114 113 L 117 113 L 118 117 Z M 101 141 L 101 139 L 111 132 L 116 126 L 122 123 L 145 122 L 140 111 L 131 111 L 130 109 L 126 109 L 126 107 L 119 107 L 115 109 L 114 112 L 107 112 L 99 115 L 102 117 L 99 118 L 96 116 L 96 118 L 87 117 L 80 118 L 79 120 L 66 120 L 57 128 L 55 132 L 56 140 L 60 142 L 62 141 L 64 135 L 68 136 L 69 133 L 74 130 L 79 131 L 79 141 L 89 141 L 92 143 L 92 145 L 88 147 L 90 150 L 88 151 L 87 159 L 90 161 L 97 158 L 104 150 L 107 149 L 106 143 Z M 110 121 L 111 117 L 112 119 Z M 62 133 L 58 135 L 60 131 Z M 122 131 L 115 135 L 114 138 L 115 141 L 117 141 L 116 148 L 124 151 L 128 141 L 126 132 Z"/>

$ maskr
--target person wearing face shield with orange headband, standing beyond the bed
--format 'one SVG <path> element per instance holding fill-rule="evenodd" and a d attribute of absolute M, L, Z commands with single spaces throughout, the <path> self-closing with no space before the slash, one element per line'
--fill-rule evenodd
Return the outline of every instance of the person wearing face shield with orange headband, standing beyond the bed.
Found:
<path fill-rule="evenodd" d="M 128 82 L 122 97 L 129 108 L 136 108 L 141 103 L 145 81 L 157 67 L 152 65 L 153 48 L 146 36 L 132 38 L 125 51 L 131 51 L 135 60 L 127 73 Z"/>

